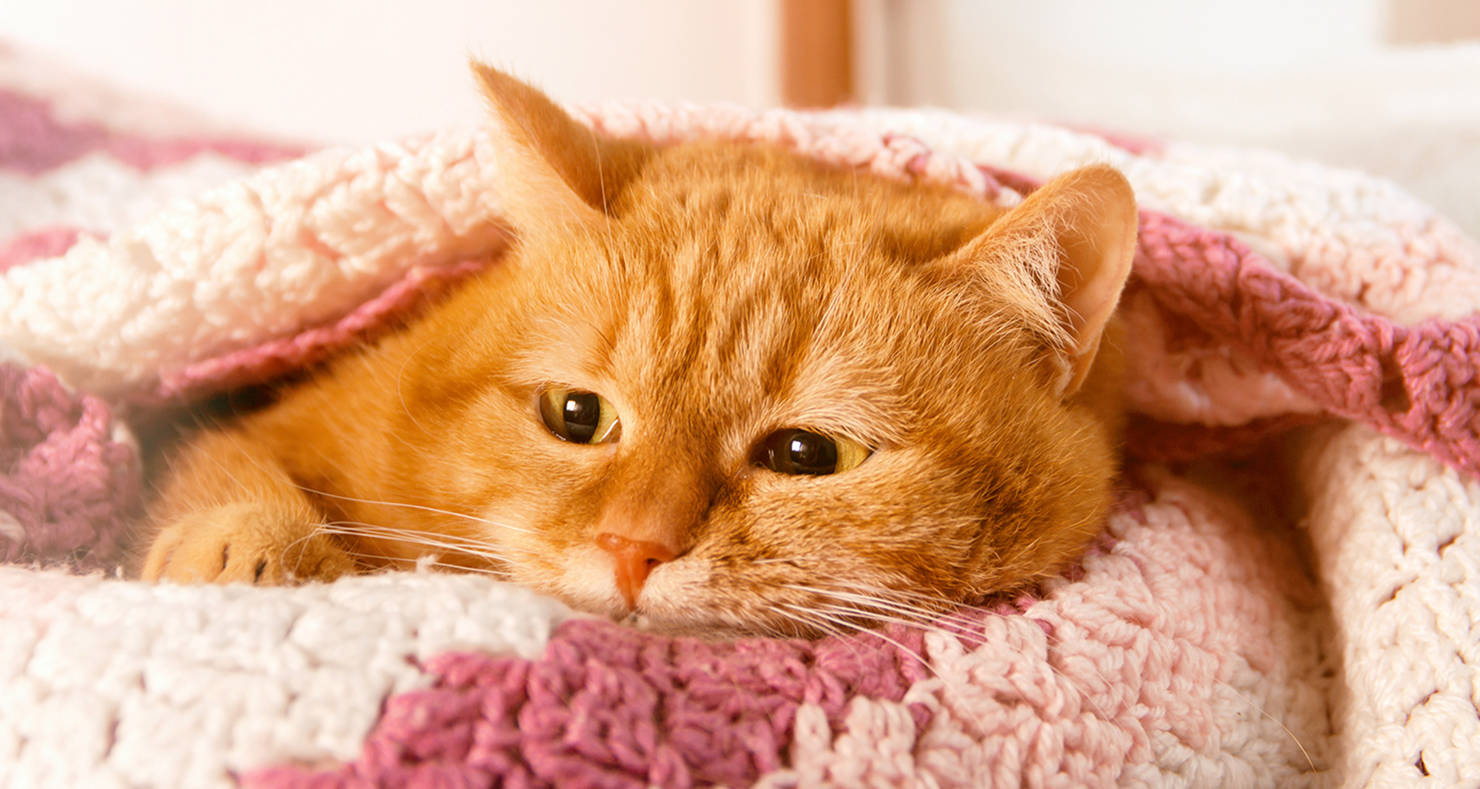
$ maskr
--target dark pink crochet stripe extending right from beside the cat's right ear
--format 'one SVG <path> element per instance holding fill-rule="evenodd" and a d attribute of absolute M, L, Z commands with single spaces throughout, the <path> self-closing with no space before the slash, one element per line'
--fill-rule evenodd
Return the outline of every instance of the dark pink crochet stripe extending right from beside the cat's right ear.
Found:
<path fill-rule="evenodd" d="M 1168 311 L 1242 345 L 1331 413 L 1480 474 L 1477 318 L 1399 326 L 1316 293 L 1225 234 L 1151 212 L 1135 274 Z"/>

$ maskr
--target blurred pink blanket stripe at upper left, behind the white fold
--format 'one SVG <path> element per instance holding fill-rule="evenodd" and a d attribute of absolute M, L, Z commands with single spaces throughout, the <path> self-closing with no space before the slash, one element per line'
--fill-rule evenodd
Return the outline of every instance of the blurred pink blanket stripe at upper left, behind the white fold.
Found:
<path fill-rule="evenodd" d="M 265 164 L 308 152 L 232 138 L 147 138 L 96 123 L 64 123 L 43 99 L 0 89 L 0 169 L 40 175 L 84 154 L 104 151 L 141 170 L 175 164 L 210 151 L 238 161 Z"/>

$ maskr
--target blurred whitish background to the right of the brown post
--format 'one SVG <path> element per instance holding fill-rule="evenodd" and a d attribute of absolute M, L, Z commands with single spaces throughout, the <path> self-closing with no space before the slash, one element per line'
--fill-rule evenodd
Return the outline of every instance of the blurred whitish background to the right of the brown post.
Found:
<path fill-rule="evenodd" d="M 861 0 L 861 95 L 1255 145 L 1480 235 L 1480 0 Z"/>

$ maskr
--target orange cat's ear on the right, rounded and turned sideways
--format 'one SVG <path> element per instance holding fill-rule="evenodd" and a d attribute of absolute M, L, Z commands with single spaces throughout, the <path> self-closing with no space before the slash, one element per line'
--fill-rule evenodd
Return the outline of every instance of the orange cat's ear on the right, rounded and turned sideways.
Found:
<path fill-rule="evenodd" d="M 1061 397 L 1089 375 L 1135 258 L 1131 184 L 1097 164 L 1049 181 L 963 250 L 1048 340 Z"/>

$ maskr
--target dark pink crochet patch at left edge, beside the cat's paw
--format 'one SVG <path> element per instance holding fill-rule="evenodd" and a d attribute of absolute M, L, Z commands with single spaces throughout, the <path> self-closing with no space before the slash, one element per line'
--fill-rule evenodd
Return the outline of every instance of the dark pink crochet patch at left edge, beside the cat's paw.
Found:
<path fill-rule="evenodd" d="M 99 567 L 138 514 L 139 460 L 101 400 L 46 367 L 0 366 L 0 558 Z M 25 539 L 6 531 L 19 528 Z"/>

